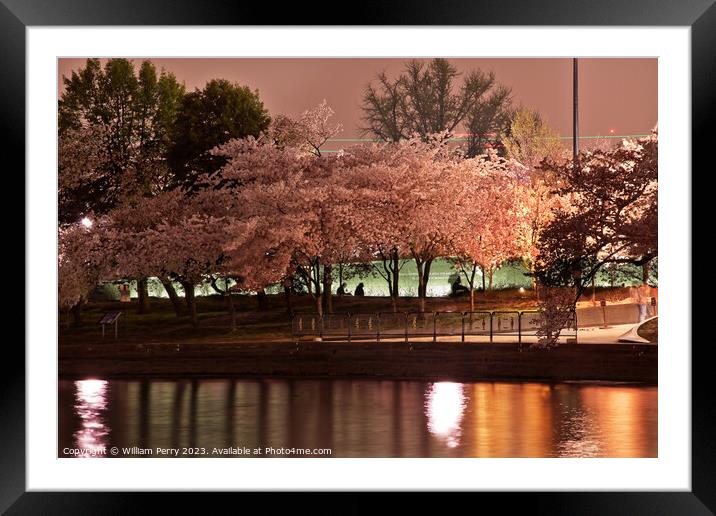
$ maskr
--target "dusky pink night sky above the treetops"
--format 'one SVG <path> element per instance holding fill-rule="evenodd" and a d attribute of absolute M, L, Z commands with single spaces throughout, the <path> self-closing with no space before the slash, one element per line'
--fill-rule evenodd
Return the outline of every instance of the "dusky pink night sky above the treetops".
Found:
<path fill-rule="evenodd" d="M 133 58 L 138 65 L 143 59 Z M 409 57 L 395 58 L 156 58 L 157 68 L 173 72 L 187 90 L 223 78 L 257 89 L 271 114 L 298 115 L 323 99 L 343 124 L 340 137 L 361 136 L 361 96 L 366 84 L 385 70 L 397 76 Z M 539 110 L 563 136 L 571 136 L 572 60 L 569 58 L 451 59 L 460 71 L 492 70 L 512 88 L 515 105 Z M 63 75 L 85 59 L 58 60 Z M 658 121 L 657 59 L 580 59 L 580 134 L 645 134 Z"/>

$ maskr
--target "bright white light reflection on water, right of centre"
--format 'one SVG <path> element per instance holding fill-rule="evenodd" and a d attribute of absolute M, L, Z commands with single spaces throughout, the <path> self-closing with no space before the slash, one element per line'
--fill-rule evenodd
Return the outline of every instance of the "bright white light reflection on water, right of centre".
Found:
<path fill-rule="evenodd" d="M 463 385 L 453 382 L 432 384 L 425 395 L 428 430 L 445 441 L 449 448 L 460 444 L 462 417 L 465 412 Z"/>

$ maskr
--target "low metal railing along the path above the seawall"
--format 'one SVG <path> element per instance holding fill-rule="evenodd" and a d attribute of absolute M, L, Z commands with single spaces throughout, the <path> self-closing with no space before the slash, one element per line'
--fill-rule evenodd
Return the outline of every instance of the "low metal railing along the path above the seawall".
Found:
<path fill-rule="evenodd" d="M 319 316 L 295 314 L 291 321 L 294 340 L 320 337 L 337 340 L 404 340 L 441 337 L 461 342 L 518 342 L 537 340 L 543 313 L 539 310 L 484 310 L 476 312 L 375 312 Z M 577 316 L 573 312 L 560 335 L 577 340 Z"/>

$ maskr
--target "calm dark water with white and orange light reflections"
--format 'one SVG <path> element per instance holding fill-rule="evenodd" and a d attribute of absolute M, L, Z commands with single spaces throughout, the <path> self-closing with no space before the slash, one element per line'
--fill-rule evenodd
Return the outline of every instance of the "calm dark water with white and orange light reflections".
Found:
<path fill-rule="evenodd" d="M 154 457 L 157 448 L 184 457 L 327 456 L 319 449 L 333 457 L 656 457 L 657 388 L 61 380 L 58 444 L 65 457 L 93 451 L 110 457 L 112 447 L 120 457 L 146 455 L 123 450 L 130 447 Z M 266 447 L 273 450 L 267 454 Z"/>

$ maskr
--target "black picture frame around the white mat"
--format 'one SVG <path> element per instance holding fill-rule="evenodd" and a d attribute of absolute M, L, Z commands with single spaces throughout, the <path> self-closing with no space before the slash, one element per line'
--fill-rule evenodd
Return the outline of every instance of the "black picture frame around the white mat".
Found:
<path fill-rule="evenodd" d="M 603 25 L 691 27 L 692 157 L 694 167 L 706 163 L 713 146 L 710 113 L 716 91 L 716 5 L 714 0 L 456 0 L 430 2 L 364 2 L 339 15 L 335 3 L 246 4 L 228 0 L 0 0 L 0 126 L 5 156 L 18 158 L 24 170 L 25 148 L 25 29 L 28 26 L 83 25 Z M 710 144 L 710 145 L 709 145 Z M 6 168 L 6 170 L 8 170 Z M 704 171 L 705 172 L 705 171 Z M 684 171 L 684 180 L 689 180 Z M 15 176 L 19 174 L 15 173 Z M 694 177 L 693 174 L 691 177 Z M 18 185 L 19 186 L 19 185 Z M 23 190 L 23 185 L 19 186 Z M 28 195 L 30 192 L 25 192 Z M 25 270 L 25 274 L 29 271 Z M 685 278 L 685 281 L 690 278 Z M 31 310 L 32 307 L 28 306 Z M 691 340 L 689 336 L 689 340 Z M 691 342 L 680 343 L 690 345 Z M 702 342 L 701 344 L 708 344 Z M 528 506 L 531 513 L 549 514 L 713 514 L 716 511 L 716 457 L 713 436 L 713 396 L 708 379 L 711 365 L 707 345 L 692 353 L 692 490 L 691 492 L 481 493 L 494 499 L 501 512 Z M 158 497 L 162 512 L 204 512 L 206 505 L 189 493 L 50 493 L 25 492 L 25 353 L 5 343 L 0 424 L 0 510 L 7 514 L 105 514 L 154 512 L 150 496 Z M 668 443 L 663 443 L 668 445 Z M 212 493 L 213 502 L 233 494 Z M 253 500 L 241 494 L 242 506 Z M 307 507 L 316 503 L 304 496 Z M 352 498 L 354 498 L 352 496 Z M 426 508 L 422 496 L 411 504 Z M 481 500 L 482 503 L 487 500 Z M 323 504 L 324 502 L 321 502 Z M 248 504 L 248 505 L 247 505 Z M 346 506 L 374 510 L 369 502 Z M 300 506 L 300 504 L 299 504 Z M 294 506 L 294 509 L 299 507 Z M 408 507 L 405 507 L 406 511 Z M 174 511 L 172 511 L 174 512 Z M 321 511 L 319 511 L 321 512 Z M 339 511 L 342 512 L 342 511 Z"/>

